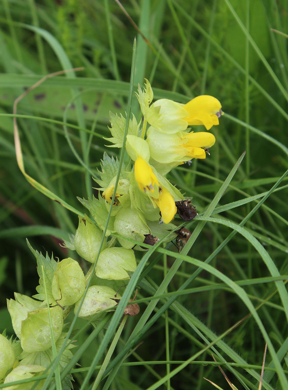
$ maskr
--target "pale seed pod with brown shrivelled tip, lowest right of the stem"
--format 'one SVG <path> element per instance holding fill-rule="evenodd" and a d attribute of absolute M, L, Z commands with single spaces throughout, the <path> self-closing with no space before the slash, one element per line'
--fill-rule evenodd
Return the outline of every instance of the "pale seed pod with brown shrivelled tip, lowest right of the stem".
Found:
<path fill-rule="evenodd" d="M 91 286 L 87 290 L 87 294 L 84 298 L 83 304 L 81 306 L 80 312 L 78 314 L 78 317 L 84 318 L 87 321 L 91 319 L 95 314 L 102 314 L 105 315 L 107 309 L 111 309 L 112 307 L 116 306 L 117 303 L 114 301 L 117 293 L 113 289 L 107 286 Z M 117 295 L 117 298 L 121 298 L 119 295 Z M 81 303 L 81 299 L 76 302 L 74 313 L 77 313 L 77 310 L 79 308 L 79 305 Z M 104 313 L 103 310 L 105 310 Z M 97 319 L 99 317 L 97 316 Z"/>

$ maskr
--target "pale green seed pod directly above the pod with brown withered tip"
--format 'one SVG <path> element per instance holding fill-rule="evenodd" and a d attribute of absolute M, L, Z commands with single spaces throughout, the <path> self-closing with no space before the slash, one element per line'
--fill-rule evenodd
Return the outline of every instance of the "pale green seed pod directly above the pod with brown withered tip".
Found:
<path fill-rule="evenodd" d="M 134 272 L 136 267 L 134 251 L 115 246 L 100 253 L 95 273 L 98 278 L 123 280 L 130 278 L 126 271 Z"/>

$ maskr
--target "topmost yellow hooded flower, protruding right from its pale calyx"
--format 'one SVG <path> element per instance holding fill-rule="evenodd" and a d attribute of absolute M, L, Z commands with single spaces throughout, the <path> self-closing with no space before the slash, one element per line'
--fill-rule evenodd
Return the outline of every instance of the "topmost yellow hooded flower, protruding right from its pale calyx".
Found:
<path fill-rule="evenodd" d="M 218 99 L 209 95 L 200 95 L 190 100 L 183 108 L 189 113 L 183 118 L 188 125 L 204 124 L 207 130 L 213 125 L 219 124 L 219 119 L 224 112 L 221 110 L 221 103 Z"/>

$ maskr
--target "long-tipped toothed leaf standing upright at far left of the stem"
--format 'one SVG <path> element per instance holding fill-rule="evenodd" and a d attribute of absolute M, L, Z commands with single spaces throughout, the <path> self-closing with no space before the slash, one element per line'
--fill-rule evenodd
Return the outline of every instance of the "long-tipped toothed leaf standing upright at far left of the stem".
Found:
<path fill-rule="evenodd" d="M 49 305 L 56 305 L 55 299 L 52 295 L 52 280 L 54 277 L 54 272 L 57 271 L 57 262 L 53 259 L 53 254 L 50 259 L 48 256 L 48 253 L 46 252 L 46 258 L 39 253 L 37 250 L 34 250 L 32 246 L 30 245 L 29 241 L 27 240 L 27 245 L 30 251 L 34 254 L 37 260 L 37 272 L 39 275 L 39 285 L 36 287 L 36 291 L 38 294 L 33 295 L 33 298 L 39 299 L 40 301 L 43 301 L 43 303 L 47 303 L 46 301 L 46 294 L 44 289 L 44 282 L 43 282 L 43 271 L 45 273 L 45 282 L 46 282 L 46 289 L 47 289 L 47 296 L 48 296 L 48 304 Z M 42 271 L 43 267 L 43 271 Z"/>

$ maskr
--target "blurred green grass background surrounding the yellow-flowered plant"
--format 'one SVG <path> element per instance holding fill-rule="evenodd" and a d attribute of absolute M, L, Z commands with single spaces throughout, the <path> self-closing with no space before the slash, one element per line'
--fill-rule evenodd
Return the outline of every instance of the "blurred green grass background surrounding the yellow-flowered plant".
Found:
<path fill-rule="evenodd" d="M 127 319 L 99 388 L 213 388 L 203 377 L 228 388 L 213 353 L 238 389 L 258 389 L 267 341 L 262 388 L 287 389 L 287 177 L 273 186 L 288 169 L 288 56 L 286 37 L 271 28 L 288 33 L 288 2 L 122 4 L 147 41 L 112 0 L 0 2 L 0 331 L 13 334 L 6 298 L 14 291 L 32 296 L 38 284 L 36 260 L 25 238 L 54 258 L 76 259 L 75 252 L 59 244 L 78 225 L 75 213 L 45 197 L 20 172 L 13 102 L 45 74 L 84 67 L 47 80 L 18 105 L 27 173 L 84 213 L 76 197 L 97 194 L 92 174 L 98 175 L 103 151 L 119 152 L 107 148 L 102 137 L 109 137 L 109 110 L 127 110 L 136 36 L 135 89 L 145 77 L 156 99 L 186 103 L 209 94 L 220 100 L 225 115 L 212 128 L 211 156 L 168 176 L 197 207 L 199 217 L 188 224 L 193 245 L 182 256 L 173 246 L 174 256 L 145 255 L 145 267 L 151 267 L 144 268 L 141 281 L 129 284 L 131 291 L 138 287 L 140 314 Z M 135 94 L 132 112 L 140 119 Z M 74 128 L 68 126 L 65 133 L 55 120 Z M 87 271 L 87 264 L 77 260 Z M 199 261 L 210 264 L 203 270 Z M 180 287 L 183 293 L 176 293 Z M 103 339 L 105 330 L 91 334 L 91 325 L 84 328 L 84 321 L 76 321 L 81 331 L 72 351 L 81 368 L 73 373 L 75 389 L 81 388 L 96 353 L 99 369 L 117 323 L 112 319 Z M 130 356 L 123 360 L 125 352 Z M 97 374 L 92 371 L 82 388 L 88 389 Z"/>

